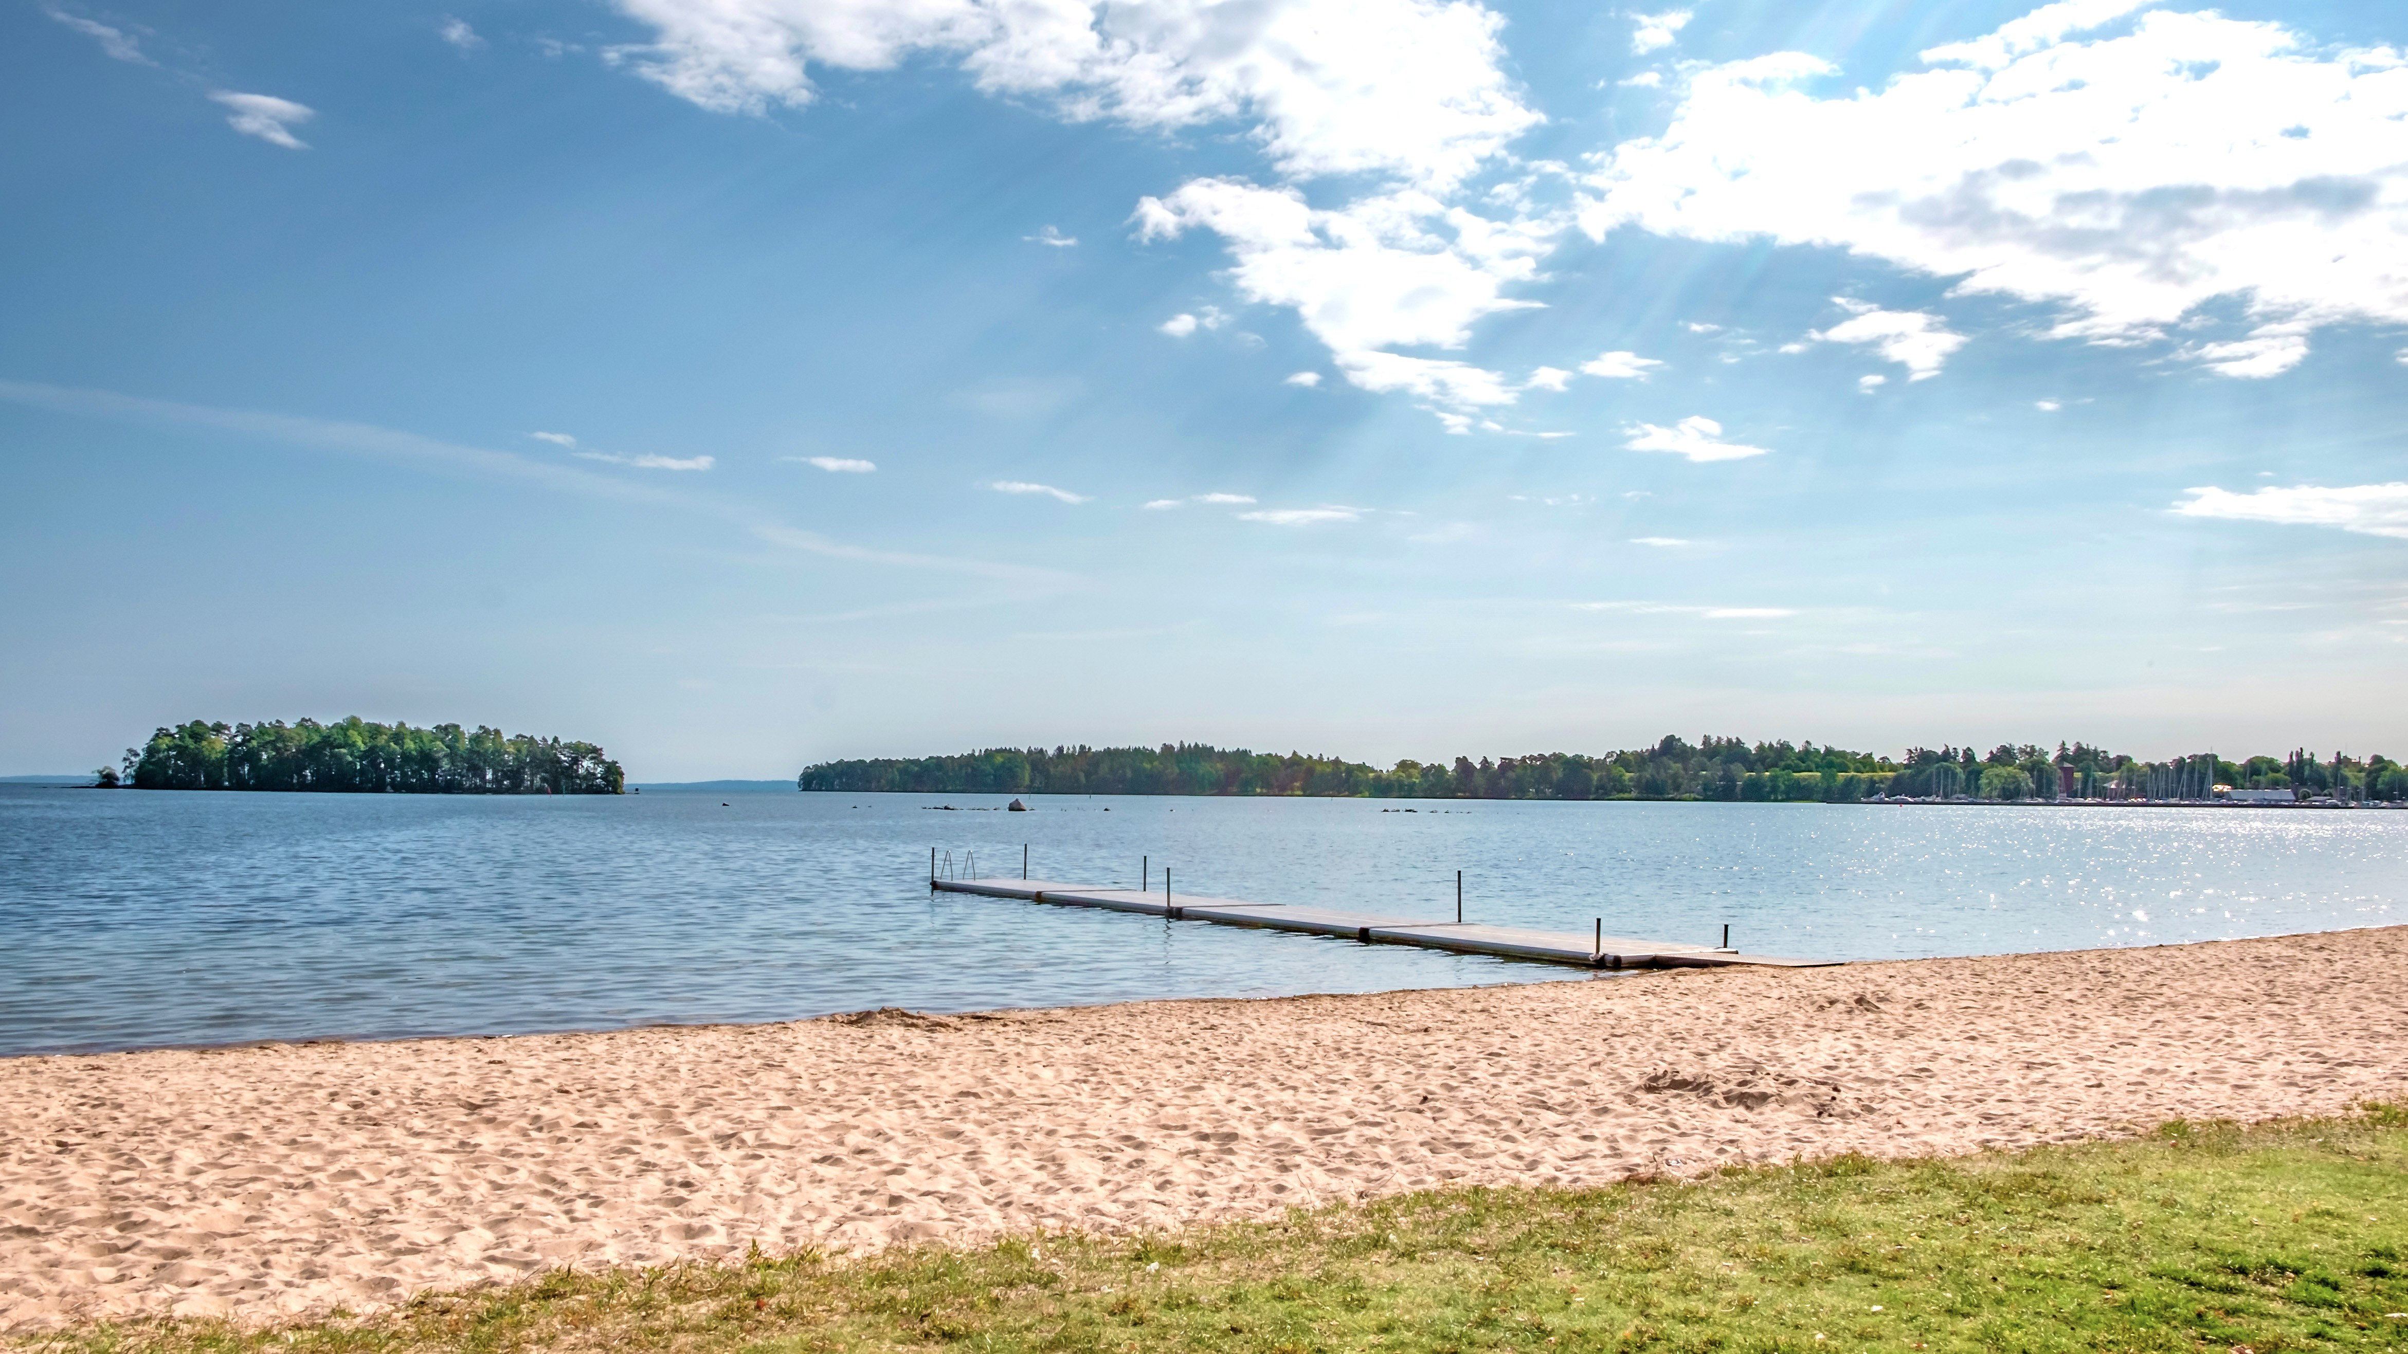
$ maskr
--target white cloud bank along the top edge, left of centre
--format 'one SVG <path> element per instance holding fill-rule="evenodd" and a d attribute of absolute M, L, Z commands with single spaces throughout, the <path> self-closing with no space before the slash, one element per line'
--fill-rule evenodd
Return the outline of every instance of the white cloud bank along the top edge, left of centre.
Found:
<path fill-rule="evenodd" d="M 811 104 L 809 67 L 961 60 L 980 89 L 1069 120 L 1252 120 L 1286 176 L 1452 186 L 1536 125 L 1474 0 L 616 0 L 653 43 L 614 48 L 706 108 Z"/>

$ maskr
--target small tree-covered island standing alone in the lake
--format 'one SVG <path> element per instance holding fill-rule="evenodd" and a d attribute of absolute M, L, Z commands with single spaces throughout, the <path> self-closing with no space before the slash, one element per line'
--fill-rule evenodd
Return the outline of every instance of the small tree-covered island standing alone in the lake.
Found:
<path fill-rule="evenodd" d="M 101 783 L 118 781 L 108 769 Z M 193 720 L 125 749 L 137 790 L 340 790 L 366 795 L 616 795 L 619 764 L 590 742 L 498 728 Z"/>

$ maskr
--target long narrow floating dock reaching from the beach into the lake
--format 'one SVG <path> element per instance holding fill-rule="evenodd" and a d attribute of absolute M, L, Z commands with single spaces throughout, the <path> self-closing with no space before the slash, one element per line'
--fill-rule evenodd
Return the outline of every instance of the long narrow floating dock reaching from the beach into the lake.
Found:
<path fill-rule="evenodd" d="M 1837 964 L 1837 959 L 1775 959 L 1770 954 L 1739 954 L 1736 949 L 1719 949 L 1712 944 L 1630 940 L 1625 935 L 1604 935 L 1601 925 L 1592 935 L 1570 935 L 1459 920 L 1375 918 L 1329 908 L 1247 903 L 1238 899 L 1204 899 L 1187 894 L 1173 899 L 1168 887 L 1158 894 L 1137 889 L 1096 889 L 1086 884 L 1050 884 L 1043 879 L 929 879 L 927 887 L 939 894 L 982 894 L 987 899 L 1019 899 L 1023 903 L 1050 903 L 1060 908 L 1105 908 L 1149 918 L 1296 930 L 1305 935 L 1358 940 L 1363 944 L 1418 944 L 1421 949 L 1493 954 L 1498 959 L 1534 959 L 1539 964 L 1570 964 L 1575 969 L 1825 969 Z"/>

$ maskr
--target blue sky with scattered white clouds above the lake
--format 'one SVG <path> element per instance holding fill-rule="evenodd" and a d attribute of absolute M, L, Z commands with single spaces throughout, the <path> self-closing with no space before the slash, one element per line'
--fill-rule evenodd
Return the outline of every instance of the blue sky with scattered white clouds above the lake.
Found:
<path fill-rule="evenodd" d="M 0 7 L 0 771 L 2408 752 L 2382 5 Z"/>

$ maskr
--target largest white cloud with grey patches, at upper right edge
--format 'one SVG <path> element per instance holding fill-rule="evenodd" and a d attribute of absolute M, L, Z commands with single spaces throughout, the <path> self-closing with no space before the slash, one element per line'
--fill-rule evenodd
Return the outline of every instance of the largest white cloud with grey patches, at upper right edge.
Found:
<path fill-rule="evenodd" d="M 1837 246 L 2107 345 L 2242 299 L 2247 337 L 2184 349 L 2225 376 L 2297 364 L 2319 325 L 2408 323 L 2408 58 L 2218 12 L 2076 36 L 2138 7 L 2047 5 L 1830 96 L 1806 53 L 1695 70 L 1664 135 L 1597 157 L 1582 226 Z"/>

